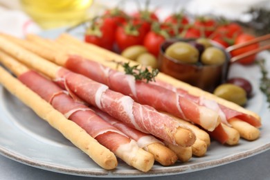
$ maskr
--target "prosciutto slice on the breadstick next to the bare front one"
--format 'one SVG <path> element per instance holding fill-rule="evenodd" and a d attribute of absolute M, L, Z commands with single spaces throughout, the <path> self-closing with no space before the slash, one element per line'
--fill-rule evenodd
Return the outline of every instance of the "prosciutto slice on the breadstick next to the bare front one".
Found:
<path fill-rule="evenodd" d="M 51 105 L 64 114 L 66 118 L 80 125 L 82 129 L 112 152 L 116 152 L 121 146 L 130 143 L 130 139 L 125 134 L 102 120 L 89 107 L 74 102 L 54 82 L 47 80 L 34 71 L 23 73 L 18 78 L 44 100 L 51 102 Z"/>

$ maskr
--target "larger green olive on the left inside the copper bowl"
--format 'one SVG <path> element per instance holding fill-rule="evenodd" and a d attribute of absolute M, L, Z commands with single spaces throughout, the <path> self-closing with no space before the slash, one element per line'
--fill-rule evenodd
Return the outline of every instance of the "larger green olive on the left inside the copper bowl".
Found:
<path fill-rule="evenodd" d="M 190 64 L 194 64 L 199 60 L 199 51 L 197 48 L 187 42 L 175 42 L 166 49 L 165 55 L 180 62 Z"/>

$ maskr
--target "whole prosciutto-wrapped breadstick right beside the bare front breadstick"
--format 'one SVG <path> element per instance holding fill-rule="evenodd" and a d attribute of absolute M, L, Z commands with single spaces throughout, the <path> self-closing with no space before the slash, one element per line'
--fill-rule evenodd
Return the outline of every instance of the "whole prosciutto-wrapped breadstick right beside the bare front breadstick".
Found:
<path fill-rule="evenodd" d="M 1 54 L 1 57 L 0 62 L 6 66 L 10 64 L 15 64 L 17 67 L 19 65 L 24 66 L 12 57 L 8 57 L 8 55 L 4 56 Z M 22 68 L 20 67 L 19 69 Z M 15 71 L 18 73 L 17 70 Z M 19 74 L 18 79 L 44 100 L 50 102 L 55 109 L 82 127 L 88 134 L 96 138 L 99 143 L 105 145 L 105 147 L 111 150 L 111 152 L 114 152 L 116 156 L 127 164 L 143 172 L 147 172 L 152 168 L 154 164 L 154 156 L 152 154 L 139 148 L 137 143 L 130 140 L 122 132 L 119 132 L 118 129 L 109 125 L 105 120 L 102 120 L 91 109 L 74 102 L 55 83 L 30 70 Z"/>

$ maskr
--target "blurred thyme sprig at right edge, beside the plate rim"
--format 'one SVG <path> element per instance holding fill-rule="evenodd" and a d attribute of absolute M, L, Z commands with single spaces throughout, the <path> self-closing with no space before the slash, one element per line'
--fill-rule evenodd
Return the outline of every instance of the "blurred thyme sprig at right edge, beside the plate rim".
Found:
<path fill-rule="evenodd" d="M 258 60 L 257 62 L 262 73 L 262 78 L 260 78 L 260 90 L 267 96 L 268 107 L 270 108 L 270 78 L 268 78 L 265 60 Z"/>

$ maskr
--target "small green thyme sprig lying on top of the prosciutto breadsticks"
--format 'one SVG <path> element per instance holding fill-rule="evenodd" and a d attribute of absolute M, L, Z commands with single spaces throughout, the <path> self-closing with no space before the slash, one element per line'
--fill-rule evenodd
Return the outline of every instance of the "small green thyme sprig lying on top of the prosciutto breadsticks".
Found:
<path fill-rule="evenodd" d="M 155 82 L 156 80 L 154 78 L 159 74 L 158 69 L 152 69 L 150 71 L 147 67 L 138 68 L 139 65 L 129 66 L 129 62 L 123 63 L 122 66 L 126 74 L 133 75 L 135 80 L 146 80 L 147 83 L 150 81 Z"/>

